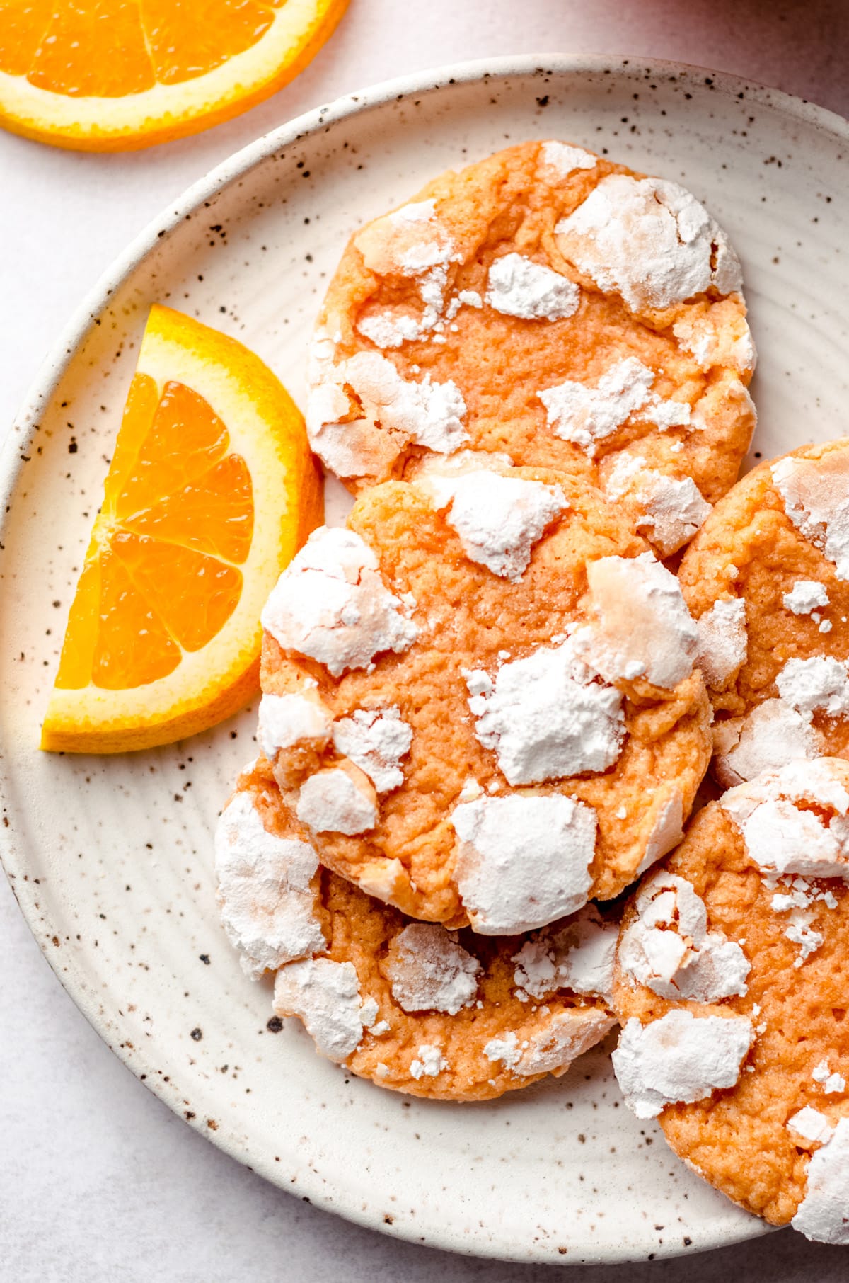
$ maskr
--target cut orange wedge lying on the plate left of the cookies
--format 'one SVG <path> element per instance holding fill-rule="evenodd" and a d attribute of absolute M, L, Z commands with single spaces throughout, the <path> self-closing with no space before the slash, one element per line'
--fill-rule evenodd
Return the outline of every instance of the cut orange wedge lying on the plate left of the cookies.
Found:
<path fill-rule="evenodd" d="M 259 612 L 322 520 L 304 421 L 235 339 L 153 307 L 41 747 L 171 743 L 259 686 Z"/>

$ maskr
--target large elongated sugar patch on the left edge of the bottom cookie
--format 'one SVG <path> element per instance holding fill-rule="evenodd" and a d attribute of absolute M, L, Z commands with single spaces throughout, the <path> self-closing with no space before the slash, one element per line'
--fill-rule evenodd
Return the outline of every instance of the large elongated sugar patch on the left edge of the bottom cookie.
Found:
<path fill-rule="evenodd" d="M 317 870 L 309 843 L 268 833 L 249 794 L 224 807 L 215 829 L 221 919 L 253 980 L 324 947 L 310 885 Z"/>

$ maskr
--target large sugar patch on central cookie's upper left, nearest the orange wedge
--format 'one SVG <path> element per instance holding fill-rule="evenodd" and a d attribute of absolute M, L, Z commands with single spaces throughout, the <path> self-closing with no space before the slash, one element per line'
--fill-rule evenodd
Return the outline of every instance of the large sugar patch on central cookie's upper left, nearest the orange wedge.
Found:
<path fill-rule="evenodd" d="M 383 650 L 407 650 L 418 629 L 409 604 L 383 584 L 377 558 L 353 530 L 314 530 L 272 589 L 262 625 L 281 647 L 339 677 Z"/>

